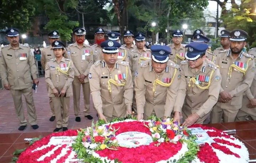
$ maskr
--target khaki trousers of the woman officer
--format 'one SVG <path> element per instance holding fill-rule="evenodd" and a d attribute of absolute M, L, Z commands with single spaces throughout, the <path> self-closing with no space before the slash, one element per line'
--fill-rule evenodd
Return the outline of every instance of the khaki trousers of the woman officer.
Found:
<path fill-rule="evenodd" d="M 54 105 L 56 127 L 68 127 L 70 97 L 51 97 Z M 62 113 L 63 110 L 63 113 Z"/>

